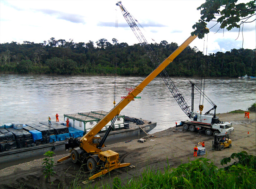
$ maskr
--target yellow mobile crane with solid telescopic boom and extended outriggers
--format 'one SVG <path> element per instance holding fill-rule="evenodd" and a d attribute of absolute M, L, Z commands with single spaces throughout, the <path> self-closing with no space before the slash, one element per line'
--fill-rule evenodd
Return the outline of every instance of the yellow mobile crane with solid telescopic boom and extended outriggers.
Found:
<path fill-rule="evenodd" d="M 129 163 L 121 164 L 119 162 L 119 154 L 112 151 L 106 150 L 102 151 L 104 147 L 104 142 L 109 135 L 111 128 L 114 125 L 118 115 L 121 110 L 126 107 L 131 101 L 134 100 L 142 90 L 159 74 L 163 71 L 173 60 L 176 58 L 197 36 L 190 36 L 182 45 L 180 45 L 168 58 L 166 58 L 154 71 L 152 71 L 149 76 L 147 76 L 139 85 L 137 85 L 125 98 L 123 98 L 114 108 L 107 113 L 88 133 L 86 133 L 80 140 L 77 138 L 70 138 L 68 143 L 66 143 L 66 149 L 72 148 L 70 150 L 70 155 L 62 159 L 59 159 L 58 162 L 64 161 L 71 158 L 73 163 L 78 161 L 84 161 L 87 163 L 87 168 L 89 171 L 95 171 L 96 167 L 101 167 L 99 173 L 92 175 L 89 180 L 92 180 L 100 175 L 104 175 L 109 171 L 129 166 Z M 96 134 L 106 126 L 106 124 L 111 121 L 111 125 L 107 129 L 102 140 L 100 136 Z"/>

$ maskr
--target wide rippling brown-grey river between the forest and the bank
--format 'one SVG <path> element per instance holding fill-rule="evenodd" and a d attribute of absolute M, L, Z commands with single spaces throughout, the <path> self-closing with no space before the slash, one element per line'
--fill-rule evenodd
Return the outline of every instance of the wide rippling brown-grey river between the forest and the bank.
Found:
<path fill-rule="evenodd" d="M 116 103 L 145 77 L 116 77 Z M 191 104 L 191 84 L 186 78 L 172 78 Z M 201 78 L 190 78 L 198 87 Z M 207 78 L 205 94 L 218 106 L 217 113 L 246 110 L 256 101 L 255 79 Z M 173 127 L 187 120 L 161 78 L 155 78 L 122 111 L 122 115 L 157 122 L 151 131 Z M 198 111 L 200 96 L 195 91 L 194 108 Z M 0 122 L 21 123 L 47 121 L 50 115 L 60 121 L 64 114 L 110 111 L 114 101 L 114 76 L 49 76 L 0 74 Z M 201 97 L 202 104 L 202 97 Z M 204 99 L 204 112 L 212 106 Z"/>

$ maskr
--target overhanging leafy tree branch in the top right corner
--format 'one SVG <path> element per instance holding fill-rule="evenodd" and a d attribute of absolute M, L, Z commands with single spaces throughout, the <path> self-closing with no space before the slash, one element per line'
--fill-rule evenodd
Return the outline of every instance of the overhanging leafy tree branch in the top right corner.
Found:
<path fill-rule="evenodd" d="M 201 19 L 192 28 L 191 35 L 198 35 L 199 39 L 209 33 L 205 27 L 210 21 L 220 23 L 220 29 L 240 28 L 243 23 L 255 21 L 255 0 L 248 3 L 237 3 L 238 0 L 206 0 L 197 10 L 201 12 Z M 215 24 L 215 25 L 216 25 Z"/>

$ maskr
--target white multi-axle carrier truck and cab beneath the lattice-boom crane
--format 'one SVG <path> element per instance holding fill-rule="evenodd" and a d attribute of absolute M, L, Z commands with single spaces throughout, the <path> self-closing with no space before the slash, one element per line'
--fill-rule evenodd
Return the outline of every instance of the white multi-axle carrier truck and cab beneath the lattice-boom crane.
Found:
<path fill-rule="evenodd" d="M 199 112 L 192 112 L 190 120 L 180 122 L 177 127 L 183 127 L 191 132 L 204 131 L 206 135 L 230 134 L 235 130 L 230 122 L 221 122 L 213 115 L 202 115 Z"/>

